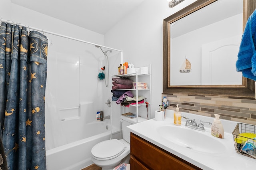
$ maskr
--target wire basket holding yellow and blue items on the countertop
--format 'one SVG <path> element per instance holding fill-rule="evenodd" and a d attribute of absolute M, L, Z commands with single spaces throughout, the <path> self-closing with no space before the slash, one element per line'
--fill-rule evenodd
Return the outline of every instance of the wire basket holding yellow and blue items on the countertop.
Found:
<path fill-rule="evenodd" d="M 256 126 L 238 123 L 232 134 L 236 152 L 256 159 Z"/>

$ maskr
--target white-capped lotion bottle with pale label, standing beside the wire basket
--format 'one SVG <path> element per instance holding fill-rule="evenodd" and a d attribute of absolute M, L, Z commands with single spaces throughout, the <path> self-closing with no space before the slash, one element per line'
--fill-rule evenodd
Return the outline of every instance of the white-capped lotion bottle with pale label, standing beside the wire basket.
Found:
<path fill-rule="evenodd" d="M 211 133 L 212 136 L 215 136 L 217 138 L 224 138 L 224 129 L 220 121 L 220 115 L 214 114 L 215 119 L 212 123 Z"/>

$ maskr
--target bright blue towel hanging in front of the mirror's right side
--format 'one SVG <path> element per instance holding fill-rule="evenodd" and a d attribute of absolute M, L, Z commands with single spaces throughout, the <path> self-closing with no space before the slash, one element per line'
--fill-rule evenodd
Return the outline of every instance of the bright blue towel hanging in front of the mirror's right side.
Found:
<path fill-rule="evenodd" d="M 236 71 L 242 71 L 243 76 L 256 81 L 256 10 L 248 18 L 240 43 Z"/>

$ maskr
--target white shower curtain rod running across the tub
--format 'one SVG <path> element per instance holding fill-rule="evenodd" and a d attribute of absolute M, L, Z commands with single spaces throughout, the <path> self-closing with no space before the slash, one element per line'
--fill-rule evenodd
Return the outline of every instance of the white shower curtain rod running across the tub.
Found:
<path fill-rule="evenodd" d="M 112 50 L 115 50 L 115 51 L 119 51 L 119 52 L 121 52 L 121 61 L 122 61 L 122 53 L 123 53 L 123 51 L 119 50 L 119 49 L 114 49 L 114 48 L 111 48 L 111 47 L 106 47 L 106 46 L 99 45 L 99 44 L 96 44 L 96 43 L 86 42 L 84 40 L 80 40 L 80 39 L 77 39 L 77 38 L 72 38 L 72 37 L 69 37 L 69 36 L 64 36 L 64 35 L 61 35 L 61 34 L 57 34 L 57 33 L 54 33 L 54 32 L 42 30 L 42 29 L 39 29 L 39 28 L 34 28 L 34 27 L 31 27 L 31 26 L 20 24 L 18 22 L 13 22 L 13 21 L 10 21 L 10 20 L 4 20 L 2 18 L 0 19 L 0 22 L 6 22 L 6 23 L 9 23 L 9 24 L 18 24 L 19 26 L 24 26 L 26 28 L 29 28 L 29 29 L 32 29 L 32 30 L 36 30 L 36 31 L 40 31 L 40 32 L 43 32 L 43 33 L 48 33 L 48 34 L 52 34 L 52 35 L 55 35 L 55 36 L 59 36 L 59 37 L 63 37 L 63 38 L 68 38 L 70 40 L 75 40 L 75 41 L 78 41 L 78 42 L 88 43 L 88 44 L 97 45 L 97 46 L 100 46 L 100 47 L 103 47 L 103 48 L 108 48 L 108 49 L 112 49 Z"/>

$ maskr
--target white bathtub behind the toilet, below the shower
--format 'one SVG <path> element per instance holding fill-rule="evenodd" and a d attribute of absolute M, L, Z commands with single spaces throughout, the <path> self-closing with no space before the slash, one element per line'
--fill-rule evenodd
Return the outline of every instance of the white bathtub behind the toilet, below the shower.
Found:
<path fill-rule="evenodd" d="M 81 170 L 92 164 L 92 147 L 98 142 L 110 139 L 111 128 L 110 124 L 106 124 L 106 122 L 89 123 L 86 125 L 86 133 L 84 133 L 87 136 L 82 140 L 46 150 L 47 170 Z M 108 130 L 106 126 L 108 126 Z M 77 135 L 76 132 L 73 134 Z M 112 127 L 112 138 L 122 138 L 121 130 Z"/>

